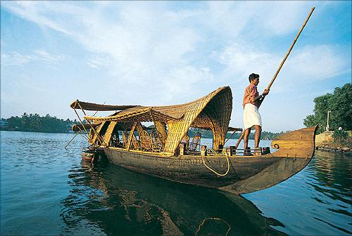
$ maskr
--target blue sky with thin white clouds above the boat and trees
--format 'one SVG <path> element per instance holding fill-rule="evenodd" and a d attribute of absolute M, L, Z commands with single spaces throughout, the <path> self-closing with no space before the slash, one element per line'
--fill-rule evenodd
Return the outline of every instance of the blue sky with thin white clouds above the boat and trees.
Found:
<path fill-rule="evenodd" d="M 230 126 L 251 73 L 264 131 L 304 127 L 313 99 L 351 83 L 351 1 L 1 1 L 1 117 L 75 119 L 73 100 L 188 103 L 230 86 Z M 104 115 L 99 112 L 97 115 Z"/>

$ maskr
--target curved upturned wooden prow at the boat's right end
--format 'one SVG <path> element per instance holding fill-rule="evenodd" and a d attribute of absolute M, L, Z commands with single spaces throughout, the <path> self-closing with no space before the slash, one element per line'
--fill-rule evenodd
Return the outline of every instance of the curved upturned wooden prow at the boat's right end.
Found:
<path fill-rule="evenodd" d="M 272 140 L 272 147 L 278 149 L 260 158 L 278 157 L 274 164 L 259 173 L 220 188 L 234 194 L 244 194 L 270 188 L 304 169 L 313 157 L 315 150 L 315 131 L 317 126 L 284 133 Z"/>

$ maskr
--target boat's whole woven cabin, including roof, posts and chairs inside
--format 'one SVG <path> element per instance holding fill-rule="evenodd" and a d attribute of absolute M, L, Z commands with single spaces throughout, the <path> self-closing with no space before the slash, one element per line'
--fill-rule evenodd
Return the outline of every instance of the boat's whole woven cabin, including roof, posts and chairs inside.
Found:
<path fill-rule="evenodd" d="M 87 133 L 90 129 L 88 138 L 92 147 L 120 147 L 139 152 L 161 152 L 164 155 L 219 155 L 224 154 L 227 132 L 242 131 L 229 127 L 232 112 L 229 86 L 181 105 L 99 105 L 76 100 L 70 106 L 75 112 L 77 109 L 84 113 L 87 129 L 82 127 Z M 95 117 L 87 116 L 84 110 L 115 110 L 115 113 Z M 145 122 L 151 122 L 152 128 L 147 128 Z M 194 133 L 194 129 L 198 132 Z M 201 130 L 213 134 L 211 147 L 201 145 L 204 138 L 199 132 Z M 233 155 L 236 151 L 238 153 L 239 150 L 230 147 L 229 153 Z"/>

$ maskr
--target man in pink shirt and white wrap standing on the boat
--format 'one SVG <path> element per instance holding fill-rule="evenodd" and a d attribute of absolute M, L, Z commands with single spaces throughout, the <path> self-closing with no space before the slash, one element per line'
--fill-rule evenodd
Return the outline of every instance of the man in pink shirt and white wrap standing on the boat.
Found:
<path fill-rule="evenodd" d="M 260 133 L 262 132 L 262 121 L 258 108 L 263 102 L 264 97 L 268 95 L 269 91 L 266 89 L 263 94 L 259 95 L 257 86 L 259 84 L 259 74 L 249 75 L 249 86 L 246 87 L 244 91 L 243 106 L 244 106 L 244 155 L 250 155 L 250 150 L 248 147 L 249 133 L 251 133 L 251 128 L 254 126 L 256 129 L 256 136 L 254 138 L 255 152 L 260 149 Z M 260 151 L 260 150 L 259 150 Z M 261 151 L 260 151 L 261 153 Z"/>

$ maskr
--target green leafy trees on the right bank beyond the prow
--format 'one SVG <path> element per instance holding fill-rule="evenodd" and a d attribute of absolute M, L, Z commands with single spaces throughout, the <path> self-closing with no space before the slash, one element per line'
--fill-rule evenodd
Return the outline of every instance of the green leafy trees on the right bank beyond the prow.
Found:
<path fill-rule="evenodd" d="M 327 93 L 314 98 L 314 114 L 309 114 L 303 124 L 307 127 L 319 125 L 318 133 L 325 131 L 327 126 L 327 111 L 329 114 L 329 129 L 352 130 L 352 84 L 345 84 L 334 89 L 334 93 Z"/>

